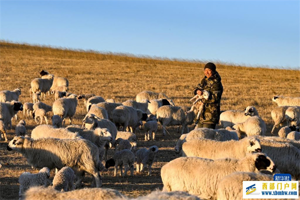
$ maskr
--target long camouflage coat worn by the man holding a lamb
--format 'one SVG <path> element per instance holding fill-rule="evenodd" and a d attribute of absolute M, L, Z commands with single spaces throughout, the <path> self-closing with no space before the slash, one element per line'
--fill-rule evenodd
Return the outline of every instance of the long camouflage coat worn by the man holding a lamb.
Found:
<path fill-rule="evenodd" d="M 203 88 L 210 93 L 207 100 L 204 98 L 201 99 L 204 103 L 204 108 L 200 114 L 199 121 L 201 123 L 217 124 L 220 116 L 220 101 L 223 93 L 221 77 L 218 72 L 215 71 L 209 78 L 204 76 L 201 82 L 193 89 L 192 94 L 195 95 L 199 88 Z"/>

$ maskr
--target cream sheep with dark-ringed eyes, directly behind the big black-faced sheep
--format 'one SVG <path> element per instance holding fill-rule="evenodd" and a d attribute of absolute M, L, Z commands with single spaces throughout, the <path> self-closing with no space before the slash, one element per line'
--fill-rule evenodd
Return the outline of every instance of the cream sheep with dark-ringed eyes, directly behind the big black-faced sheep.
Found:
<path fill-rule="evenodd" d="M 238 141 L 215 141 L 205 138 L 189 140 L 182 144 L 183 156 L 197 156 L 209 159 L 231 157 L 243 158 L 250 152 L 261 152 L 259 140 L 254 137 L 245 137 Z"/>

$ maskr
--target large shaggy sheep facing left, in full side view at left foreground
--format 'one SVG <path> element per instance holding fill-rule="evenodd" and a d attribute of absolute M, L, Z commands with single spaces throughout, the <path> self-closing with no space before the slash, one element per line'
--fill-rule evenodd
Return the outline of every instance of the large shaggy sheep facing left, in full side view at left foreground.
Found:
<path fill-rule="evenodd" d="M 8 143 L 7 150 L 20 152 L 27 159 L 28 164 L 35 168 L 71 167 L 75 174 L 79 175 L 75 186 L 81 182 L 84 171 L 93 175 L 96 187 L 102 185 L 98 173 L 98 148 L 86 139 L 32 139 L 15 136 Z"/>

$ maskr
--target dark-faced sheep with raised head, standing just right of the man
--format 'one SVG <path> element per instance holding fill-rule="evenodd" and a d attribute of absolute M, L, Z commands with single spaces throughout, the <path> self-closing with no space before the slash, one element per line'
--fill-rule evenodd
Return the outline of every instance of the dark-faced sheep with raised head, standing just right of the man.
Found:
<path fill-rule="evenodd" d="M 254 106 L 247 106 L 242 110 L 226 110 L 220 113 L 220 127 L 232 127 L 236 123 L 244 122 L 251 116 L 258 116 L 258 112 Z"/>

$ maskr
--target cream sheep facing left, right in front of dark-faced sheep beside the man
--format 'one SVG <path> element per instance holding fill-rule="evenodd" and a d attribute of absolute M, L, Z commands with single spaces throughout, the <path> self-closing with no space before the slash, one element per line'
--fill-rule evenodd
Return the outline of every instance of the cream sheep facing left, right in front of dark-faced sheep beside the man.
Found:
<path fill-rule="evenodd" d="M 247 136 L 252 135 L 264 135 L 266 126 L 262 118 L 259 116 L 251 116 L 244 122 L 236 123 L 233 128 L 238 130 L 240 134 L 246 134 Z"/>

